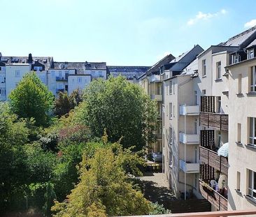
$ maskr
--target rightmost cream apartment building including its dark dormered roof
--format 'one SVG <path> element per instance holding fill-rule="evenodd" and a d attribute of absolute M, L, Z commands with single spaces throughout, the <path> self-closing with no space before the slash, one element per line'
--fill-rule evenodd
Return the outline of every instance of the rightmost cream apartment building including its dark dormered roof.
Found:
<path fill-rule="evenodd" d="M 244 59 L 232 61 L 226 67 L 230 107 L 229 210 L 255 209 L 256 206 L 255 48 L 256 39 L 246 49 L 241 50 L 245 54 Z"/>

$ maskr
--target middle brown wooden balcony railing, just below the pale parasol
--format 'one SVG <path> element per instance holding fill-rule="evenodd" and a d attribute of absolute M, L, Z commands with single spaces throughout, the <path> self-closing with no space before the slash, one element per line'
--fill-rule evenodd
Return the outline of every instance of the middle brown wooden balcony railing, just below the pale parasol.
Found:
<path fill-rule="evenodd" d="M 227 158 L 218 156 L 215 151 L 200 147 L 200 161 L 201 163 L 206 163 L 216 170 L 219 170 L 221 173 L 227 174 L 229 168 Z"/>

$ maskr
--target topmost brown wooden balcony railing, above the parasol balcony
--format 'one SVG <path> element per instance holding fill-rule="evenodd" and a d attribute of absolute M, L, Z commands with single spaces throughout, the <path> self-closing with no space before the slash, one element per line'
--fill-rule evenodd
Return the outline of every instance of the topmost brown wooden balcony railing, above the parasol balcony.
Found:
<path fill-rule="evenodd" d="M 229 130 L 229 115 L 200 112 L 200 124 L 217 130 Z"/>

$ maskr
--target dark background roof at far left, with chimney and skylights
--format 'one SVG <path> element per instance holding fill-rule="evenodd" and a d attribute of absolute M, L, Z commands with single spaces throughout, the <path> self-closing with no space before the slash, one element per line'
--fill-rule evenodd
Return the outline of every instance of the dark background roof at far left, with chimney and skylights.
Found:
<path fill-rule="evenodd" d="M 43 64 L 45 70 L 48 70 L 52 64 L 52 57 L 32 57 L 32 64 L 38 62 Z M 4 63 L 28 63 L 29 57 L 0 57 L 0 61 Z"/>

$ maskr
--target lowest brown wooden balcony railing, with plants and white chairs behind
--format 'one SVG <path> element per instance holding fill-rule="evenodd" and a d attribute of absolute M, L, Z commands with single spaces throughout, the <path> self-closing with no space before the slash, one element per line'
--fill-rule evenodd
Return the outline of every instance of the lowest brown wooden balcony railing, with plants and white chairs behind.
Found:
<path fill-rule="evenodd" d="M 204 183 L 201 179 L 199 179 L 199 191 L 201 195 L 211 202 L 214 207 L 216 207 L 220 211 L 227 210 L 227 199 L 220 195 L 216 190 L 213 190 L 210 186 Z"/>

